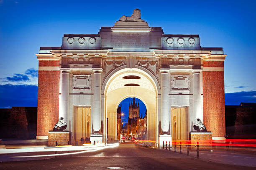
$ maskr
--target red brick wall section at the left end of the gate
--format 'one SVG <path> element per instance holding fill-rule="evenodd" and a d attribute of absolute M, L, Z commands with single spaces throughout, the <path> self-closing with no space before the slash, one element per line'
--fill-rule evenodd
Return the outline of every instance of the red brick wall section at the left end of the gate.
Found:
<path fill-rule="evenodd" d="M 59 66 L 59 61 L 41 61 L 40 66 Z M 47 136 L 59 119 L 59 71 L 38 71 L 37 135 Z"/>

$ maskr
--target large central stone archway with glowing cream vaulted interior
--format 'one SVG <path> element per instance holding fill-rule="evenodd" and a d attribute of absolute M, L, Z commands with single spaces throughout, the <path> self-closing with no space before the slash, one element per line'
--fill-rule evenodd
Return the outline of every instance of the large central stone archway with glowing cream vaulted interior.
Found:
<path fill-rule="evenodd" d="M 125 76 L 138 76 L 139 79 L 126 79 Z M 158 88 L 154 80 L 147 72 L 138 68 L 125 68 L 118 70 L 109 77 L 104 89 L 104 140 L 106 141 L 106 132 L 108 128 L 108 139 L 116 140 L 116 121 L 117 108 L 119 103 L 127 97 L 137 97 L 146 105 L 147 108 L 147 125 L 148 125 L 148 140 L 157 141 L 158 132 L 158 112 L 157 112 L 157 94 Z M 134 86 L 134 84 L 138 86 Z M 108 126 L 107 127 L 107 118 Z"/>

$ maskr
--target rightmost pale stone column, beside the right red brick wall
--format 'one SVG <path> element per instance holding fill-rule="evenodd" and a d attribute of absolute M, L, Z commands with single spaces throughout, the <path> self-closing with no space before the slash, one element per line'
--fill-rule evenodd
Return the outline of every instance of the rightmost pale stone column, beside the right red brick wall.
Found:
<path fill-rule="evenodd" d="M 200 70 L 193 70 L 193 123 L 199 118 L 203 122 L 201 103 Z"/>

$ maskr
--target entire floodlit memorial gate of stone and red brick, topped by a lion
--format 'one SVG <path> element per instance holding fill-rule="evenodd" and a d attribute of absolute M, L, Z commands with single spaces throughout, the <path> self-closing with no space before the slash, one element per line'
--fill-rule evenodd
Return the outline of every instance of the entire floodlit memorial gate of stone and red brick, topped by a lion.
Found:
<path fill-rule="evenodd" d="M 64 34 L 60 47 L 36 55 L 38 139 L 63 117 L 73 145 L 83 135 L 106 143 L 106 120 L 116 120 L 125 97 L 145 103 L 148 139 L 158 146 L 189 139 L 197 119 L 212 139 L 224 138 L 226 55 L 222 47 L 201 47 L 199 35 L 165 34 L 135 9 L 97 34 Z"/>

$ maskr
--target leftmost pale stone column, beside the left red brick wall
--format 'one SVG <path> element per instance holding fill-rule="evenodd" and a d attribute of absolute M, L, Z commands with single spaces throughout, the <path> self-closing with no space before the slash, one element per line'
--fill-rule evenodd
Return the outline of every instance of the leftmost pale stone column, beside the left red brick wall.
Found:
<path fill-rule="evenodd" d="M 66 130 L 69 130 L 69 72 L 70 70 L 62 70 L 61 72 L 61 102 L 59 117 L 64 118 L 67 123 Z"/>

